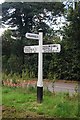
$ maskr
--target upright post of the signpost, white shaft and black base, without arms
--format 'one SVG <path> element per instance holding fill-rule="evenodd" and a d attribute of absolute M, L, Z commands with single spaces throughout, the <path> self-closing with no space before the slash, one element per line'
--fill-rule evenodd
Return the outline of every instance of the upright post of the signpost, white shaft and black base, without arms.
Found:
<path fill-rule="evenodd" d="M 39 32 L 39 54 L 38 54 L 38 81 L 37 81 L 37 101 L 43 100 L 43 32 Z"/>

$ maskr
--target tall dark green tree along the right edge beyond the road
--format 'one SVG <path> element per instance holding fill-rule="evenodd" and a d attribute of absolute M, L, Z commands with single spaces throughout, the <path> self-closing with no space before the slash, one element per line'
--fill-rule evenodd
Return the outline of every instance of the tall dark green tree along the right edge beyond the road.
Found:
<path fill-rule="evenodd" d="M 76 4 L 76 9 L 69 9 L 69 25 L 64 29 L 63 45 L 65 50 L 65 65 L 68 79 L 79 80 L 80 75 L 80 2 Z"/>

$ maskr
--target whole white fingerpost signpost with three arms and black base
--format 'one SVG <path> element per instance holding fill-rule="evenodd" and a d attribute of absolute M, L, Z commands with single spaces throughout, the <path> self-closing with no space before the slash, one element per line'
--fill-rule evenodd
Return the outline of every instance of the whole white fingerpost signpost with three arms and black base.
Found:
<path fill-rule="evenodd" d="M 37 102 L 41 103 L 43 100 L 43 53 L 60 52 L 60 44 L 43 45 L 43 32 L 39 34 L 26 33 L 29 39 L 39 40 L 39 45 L 24 46 L 24 53 L 38 53 L 38 81 L 37 81 Z"/>

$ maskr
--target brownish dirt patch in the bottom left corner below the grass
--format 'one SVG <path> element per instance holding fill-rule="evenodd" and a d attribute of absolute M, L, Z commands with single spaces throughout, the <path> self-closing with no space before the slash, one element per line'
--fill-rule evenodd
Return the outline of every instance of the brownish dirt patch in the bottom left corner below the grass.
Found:
<path fill-rule="evenodd" d="M 30 111 L 16 110 L 14 107 L 2 107 L 2 118 L 44 118 L 44 115 L 38 115 Z"/>

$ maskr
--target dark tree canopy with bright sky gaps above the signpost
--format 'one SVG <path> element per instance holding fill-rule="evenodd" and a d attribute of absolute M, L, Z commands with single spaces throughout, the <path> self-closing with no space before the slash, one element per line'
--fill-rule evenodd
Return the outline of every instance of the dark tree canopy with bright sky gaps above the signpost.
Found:
<path fill-rule="evenodd" d="M 49 26 L 45 20 L 52 20 L 53 16 L 63 13 L 64 5 L 62 3 L 3 3 L 2 4 L 2 22 L 11 27 L 17 26 L 20 36 L 26 32 L 36 31 L 43 28 L 46 33 Z M 51 12 L 52 16 L 49 14 Z"/>

